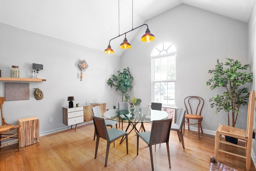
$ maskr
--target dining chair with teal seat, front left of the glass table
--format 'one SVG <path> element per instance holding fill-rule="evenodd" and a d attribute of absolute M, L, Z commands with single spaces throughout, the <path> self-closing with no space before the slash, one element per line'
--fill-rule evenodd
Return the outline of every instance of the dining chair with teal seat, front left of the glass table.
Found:
<path fill-rule="evenodd" d="M 115 146 L 116 139 L 125 136 L 126 153 L 128 154 L 128 133 L 127 132 L 121 131 L 116 128 L 107 129 L 105 119 L 102 117 L 92 116 L 92 119 L 93 119 L 94 127 L 96 130 L 96 136 L 97 136 L 94 159 L 96 159 L 96 157 L 97 157 L 100 138 L 106 139 L 106 141 L 107 141 L 105 167 L 107 166 L 107 162 L 108 162 L 108 153 L 109 153 L 109 149 L 110 149 L 110 143 L 114 142 L 114 146 Z"/>

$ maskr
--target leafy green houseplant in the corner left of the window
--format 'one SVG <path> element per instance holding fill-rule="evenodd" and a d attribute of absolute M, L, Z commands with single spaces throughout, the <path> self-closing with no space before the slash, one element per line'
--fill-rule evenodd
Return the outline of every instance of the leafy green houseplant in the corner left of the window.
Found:
<path fill-rule="evenodd" d="M 122 101 L 128 101 L 130 103 L 134 103 L 134 105 L 139 105 L 141 99 L 136 99 L 135 97 L 132 98 L 131 93 L 129 94 L 129 92 L 132 91 L 133 81 L 130 69 L 127 67 L 127 69 L 123 69 L 123 72 L 120 72 L 119 70 L 117 73 L 117 76 L 112 74 L 112 77 L 108 79 L 107 84 L 110 85 L 110 87 L 116 87 L 116 91 L 121 91 Z"/>

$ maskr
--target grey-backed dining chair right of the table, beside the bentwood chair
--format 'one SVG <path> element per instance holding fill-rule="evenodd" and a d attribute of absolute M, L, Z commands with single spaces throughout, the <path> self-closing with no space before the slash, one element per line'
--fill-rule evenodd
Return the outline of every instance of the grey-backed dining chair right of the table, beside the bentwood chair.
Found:
<path fill-rule="evenodd" d="M 177 113 L 178 113 L 178 118 L 176 120 L 176 123 L 172 123 L 171 131 L 177 131 L 178 138 L 182 143 L 182 147 L 185 148 L 183 134 L 182 134 L 182 126 L 183 126 L 186 110 L 183 108 L 180 108 L 178 109 Z"/>

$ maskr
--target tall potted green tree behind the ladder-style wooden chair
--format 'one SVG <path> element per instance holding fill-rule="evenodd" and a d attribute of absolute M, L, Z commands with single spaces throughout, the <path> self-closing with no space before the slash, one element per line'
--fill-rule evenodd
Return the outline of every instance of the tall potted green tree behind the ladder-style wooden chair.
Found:
<path fill-rule="evenodd" d="M 210 107 L 216 107 L 216 114 L 223 110 L 228 115 L 228 126 L 230 126 L 230 114 L 232 116 L 232 127 L 235 127 L 239 114 L 240 105 L 247 105 L 247 99 L 250 95 L 248 89 L 242 85 L 252 83 L 253 73 L 247 73 L 250 65 L 242 66 L 238 60 L 226 58 L 223 64 L 217 60 L 214 70 L 208 73 L 213 74 L 211 79 L 206 82 L 210 89 L 223 88 L 222 94 L 216 94 L 209 99 Z"/>

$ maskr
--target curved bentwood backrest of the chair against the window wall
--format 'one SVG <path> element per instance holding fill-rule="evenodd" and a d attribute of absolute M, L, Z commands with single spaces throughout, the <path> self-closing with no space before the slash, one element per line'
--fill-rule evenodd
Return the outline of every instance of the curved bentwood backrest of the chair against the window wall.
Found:
<path fill-rule="evenodd" d="M 184 99 L 187 114 L 200 115 L 204 107 L 204 99 L 198 96 L 188 96 Z"/>

